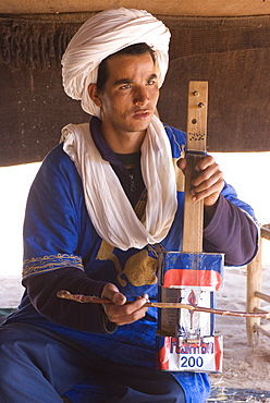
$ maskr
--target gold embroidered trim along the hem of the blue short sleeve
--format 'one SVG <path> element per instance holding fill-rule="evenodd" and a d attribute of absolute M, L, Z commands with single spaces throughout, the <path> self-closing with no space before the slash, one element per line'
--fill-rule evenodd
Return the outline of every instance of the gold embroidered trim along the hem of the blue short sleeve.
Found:
<path fill-rule="evenodd" d="M 24 260 L 23 280 L 29 276 L 62 269 L 63 267 L 75 267 L 84 270 L 83 261 L 79 256 L 58 254 L 44 257 L 33 257 L 32 259 Z"/>

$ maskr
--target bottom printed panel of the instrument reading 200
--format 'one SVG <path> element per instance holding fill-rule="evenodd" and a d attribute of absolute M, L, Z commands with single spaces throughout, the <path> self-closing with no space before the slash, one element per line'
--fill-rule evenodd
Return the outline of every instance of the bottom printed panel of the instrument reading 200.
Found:
<path fill-rule="evenodd" d="M 222 337 L 184 342 L 181 338 L 157 337 L 156 367 L 169 371 L 221 373 Z"/>

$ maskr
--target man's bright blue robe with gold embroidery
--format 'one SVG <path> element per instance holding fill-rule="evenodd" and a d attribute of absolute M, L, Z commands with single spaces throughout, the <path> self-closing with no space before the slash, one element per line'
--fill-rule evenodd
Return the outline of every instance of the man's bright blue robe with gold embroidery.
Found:
<path fill-rule="evenodd" d="M 170 126 L 165 126 L 165 131 L 175 162 L 185 146 L 185 134 Z M 162 241 L 168 251 L 181 251 L 182 245 L 183 174 L 175 170 L 177 211 Z M 253 216 L 250 207 L 237 199 L 231 186 L 225 185 L 222 195 Z M 64 267 L 75 267 L 94 280 L 114 283 L 127 300 L 144 293 L 151 301 L 157 300 L 155 254 L 148 247 L 123 252 L 99 237 L 86 210 L 81 178 L 60 144 L 46 157 L 30 188 L 24 224 L 23 277 L 26 279 Z M 98 334 L 76 331 L 46 319 L 25 293 L 19 310 L 7 323 L 17 321 L 60 333 L 115 363 L 155 367 L 156 308 L 148 308 L 146 317 L 134 323 L 121 326 L 112 333 Z M 173 376 L 183 387 L 187 403 L 205 402 L 210 390 L 206 374 L 173 373 Z"/>

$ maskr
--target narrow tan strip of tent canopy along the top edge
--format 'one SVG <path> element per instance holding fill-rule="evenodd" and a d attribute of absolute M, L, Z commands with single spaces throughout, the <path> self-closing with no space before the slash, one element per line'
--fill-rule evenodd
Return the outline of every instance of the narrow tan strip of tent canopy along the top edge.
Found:
<path fill-rule="evenodd" d="M 97 12 L 125 7 L 147 9 L 150 13 L 177 16 L 243 16 L 270 14 L 269 0 L 2 0 L 0 13 L 74 13 Z"/>

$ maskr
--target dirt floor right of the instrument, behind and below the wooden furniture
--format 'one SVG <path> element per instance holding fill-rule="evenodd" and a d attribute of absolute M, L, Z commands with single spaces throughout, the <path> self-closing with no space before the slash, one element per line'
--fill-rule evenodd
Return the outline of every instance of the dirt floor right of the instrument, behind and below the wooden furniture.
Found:
<path fill-rule="evenodd" d="M 270 294 L 269 267 L 262 272 L 262 291 Z M 217 295 L 218 307 L 245 310 L 245 269 L 225 268 L 224 286 Z M 270 305 L 267 303 L 262 304 L 262 307 L 270 310 Z M 222 334 L 224 339 L 223 371 L 210 375 L 212 389 L 216 390 L 212 395 L 218 395 L 219 399 L 212 399 L 209 402 L 222 400 L 270 403 L 270 338 L 259 334 L 258 344 L 249 346 L 244 318 L 217 316 L 216 320 L 216 332 Z M 262 325 L 265 322 L 261 321 Z"/>

